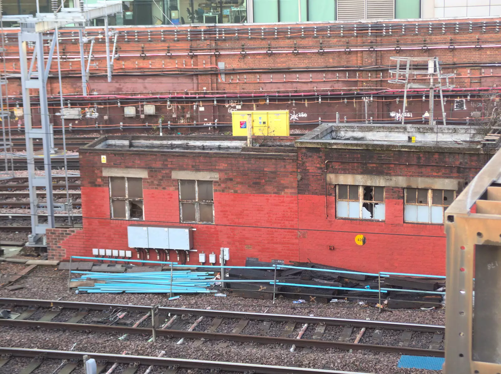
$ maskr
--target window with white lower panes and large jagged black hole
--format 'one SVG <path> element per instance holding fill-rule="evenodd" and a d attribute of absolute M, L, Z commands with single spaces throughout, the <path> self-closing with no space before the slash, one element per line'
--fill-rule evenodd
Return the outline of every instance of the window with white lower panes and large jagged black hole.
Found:
<path fill-rule="evenodd" d="M 337 218 L 383 221 L 384 187 L 338 184 L 336 208 Z"/>

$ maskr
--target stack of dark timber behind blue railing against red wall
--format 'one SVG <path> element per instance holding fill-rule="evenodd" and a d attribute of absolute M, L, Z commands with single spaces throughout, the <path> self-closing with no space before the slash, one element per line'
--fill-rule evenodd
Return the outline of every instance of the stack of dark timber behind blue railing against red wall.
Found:
<path fill-rule="evenodd" d="M 255 258 L 248 258 L 245 266 L 273 267 L 283 262 L 263 262 Z M 289 299 L 302 299 L 313 302 L 330 302 L 332 299 L 346 299 L 347 301 L 364 301 L 378 303 L 377 292 L 367 292 L 367 288 L 378 289 L 378 277 L 363 274 L 346 274 L 337 272 L 315 271 L 315 269 L 329 269 L 339 271 L 356 271 L 337 268 L 312 262 L 291 262 L 291 266 L 305 267 L 305 269 L 278 269 L 276 274 L 276 297 L 283 296 Z M 274 292 L 275 271 L 264 269 L 230 269 L 225 280 L 226 287 L 232 290 L 233 295 L 259 299 L 272 299 Z M 231 282 L 232 280 L 256 280 L 262 282 Z M 442 280 L 440 280 L 442 281 Z M 385 302 L 390 309 L 438 307 L 442 301 L 441 295 L 420 293 L 419 291 L 436 291 L 443 287 L 439 280 L 390 276 L 381 278 L 381 288 L 415 290 L 416 292 L 388 291 L 381 293 L 381 302 Z M 294 285 L 284 285 L 290 283 Z M 322 287 L 344 287 L 355 290 L 339 290 Z M 386 301 L 385 301 L 386 300 Z"/>

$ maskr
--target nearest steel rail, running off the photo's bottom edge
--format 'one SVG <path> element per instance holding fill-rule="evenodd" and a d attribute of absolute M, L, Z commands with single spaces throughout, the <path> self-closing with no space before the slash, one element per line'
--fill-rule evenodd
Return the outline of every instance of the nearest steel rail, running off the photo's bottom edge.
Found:
<path fill-rule="evenodd" d="M 27 348 L 11 348 L 0 347 L 0 354 L 10 354 L 17 357 L 44 357 L 53 359 L 81 360 L 84 355 L 89 358 L 94 358 L 96 361 L 118 362 L 118 363 L 139 363 L 140 365 L 154 366 L 179 366 L 181 368 L 207 369 L 209 367 L 218 368 L 225 371 L 238 372 L 256 372 L 263 374 L 366 374 L 362 372 L 329 370 L 329 369 L 314 369 L 306 367 L 289 367 L 275 365 L 261 365 L 255 363 L 238 363 L 224 361 L 207 361 L 184 358 L 170 357 L 150 357 L 136 356 L 128 354 L 112 354 L 112 353 L 96 353 L 96 352 L 74 352 L 49 349 L 27 349 Z"/>

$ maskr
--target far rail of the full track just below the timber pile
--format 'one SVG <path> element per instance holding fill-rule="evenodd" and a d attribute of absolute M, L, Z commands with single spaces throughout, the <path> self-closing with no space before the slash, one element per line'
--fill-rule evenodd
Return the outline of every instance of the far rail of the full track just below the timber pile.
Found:
<path fill-rule="evenodd" d="M 127 304 L 100 304 L 91 302 L 80 301 L 63 301 L 63 300 L 36 300 L 36 299 L 14 299 L 14 298 L 0 298 L 0 305 L 14 304 L 17 306 L 40 306 L 40 307 L 61 307 L 70 309 L 89 308 L 93 310 L 107 310 L 115 308 L 125 308 L 134 311 L 151 311 L 151 306 L 145 305 L 127 305 Z M 359 319 L 345 319 L 345 318 L 331 318 L 331 317 L 313 317 L 304 315 L 290 315 L 290 314 L 269 314 L 269 313 L 251 313 L 251 312 L 238 312 L 228 310 L 210 310 L 210 309 L 188 309 L 188 308 L 172 308 L 161 306 L 158 309 L 160 312 L 170 314 L 193 314 L 205 317 L 214 318 L 236 318 L 236 319 L 252 319 L 252 320 L 267 320 L 277 322 L 290 322 L 297 323 L 313 323 L 313 324 L 326 324 L 335 326 L 351 325 L 355 327 L 368 327 L 368 328 L 385 328 L 389 330 L 412 330 L 419 332 L 445 332 L 445 326 L 440 325 L 425 325 L 417 323 L 398 323 L 387 321 L 370 321 Z"/>

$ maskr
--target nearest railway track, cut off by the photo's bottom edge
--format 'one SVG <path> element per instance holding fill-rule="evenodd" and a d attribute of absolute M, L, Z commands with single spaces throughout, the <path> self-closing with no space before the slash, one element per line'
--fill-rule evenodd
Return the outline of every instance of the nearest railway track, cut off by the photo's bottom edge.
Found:
<path fill-rule="evenodd" d="M 104 373 L 116 363 L 125 366 L 121 371 L 122 374 L 135 374 L 136 372 L 144 372 L 149 366 L 157 366 L 162 369 L 162 372 L 176 374 L 182 369 L 198 369 L 199 372 L 243 372 L 243 373 L 263 373 L 263 374 L 364 374 L 351 371 L 329 370 L 329 369 L 312 369 L 304 367 L 289 367 L 289 366 L 272 366 L 261 365 L 254 363 L 236 363 L 223 361 L 207 361 L 193 360 L 182 358 L 169 357 L 151 357 L 151 356 L 136 356 L 127 354 L 112 354 L 112 353 L 96 353 L 96 352 L 74 352 L 48 349 L 26 349 L 26 348 L 11 348 L 0 347 L 0 367 L 10 369 L 12 374 L 15 374 L 14 368 L 23 370 L 24 374 L 31 374 L 35 370 L 40 372 L 44 365 L 48 363 L 61 362 L 59 369 L 55 374 L 69 374 L 76 368 L 83 367 L 83 356 L 94 358 L 97 362 L 97 372 Z M 19 358 L 29 358 L 27 362 L 19 364 L 16 362 Z M 167 371 L 163 371 L 167 368 Z M 118 371 L 118 370 L 117 370 Z M 115 371 L 115 372 L 117 372 Z M 21 371 L 18 371 L 21 372 Z M 51 369 L 47 372 L 53 372 Z M 159 371 L 154 371 L 159 372 Z M 193 371 L 190 371 L 193 372 Z"/>

